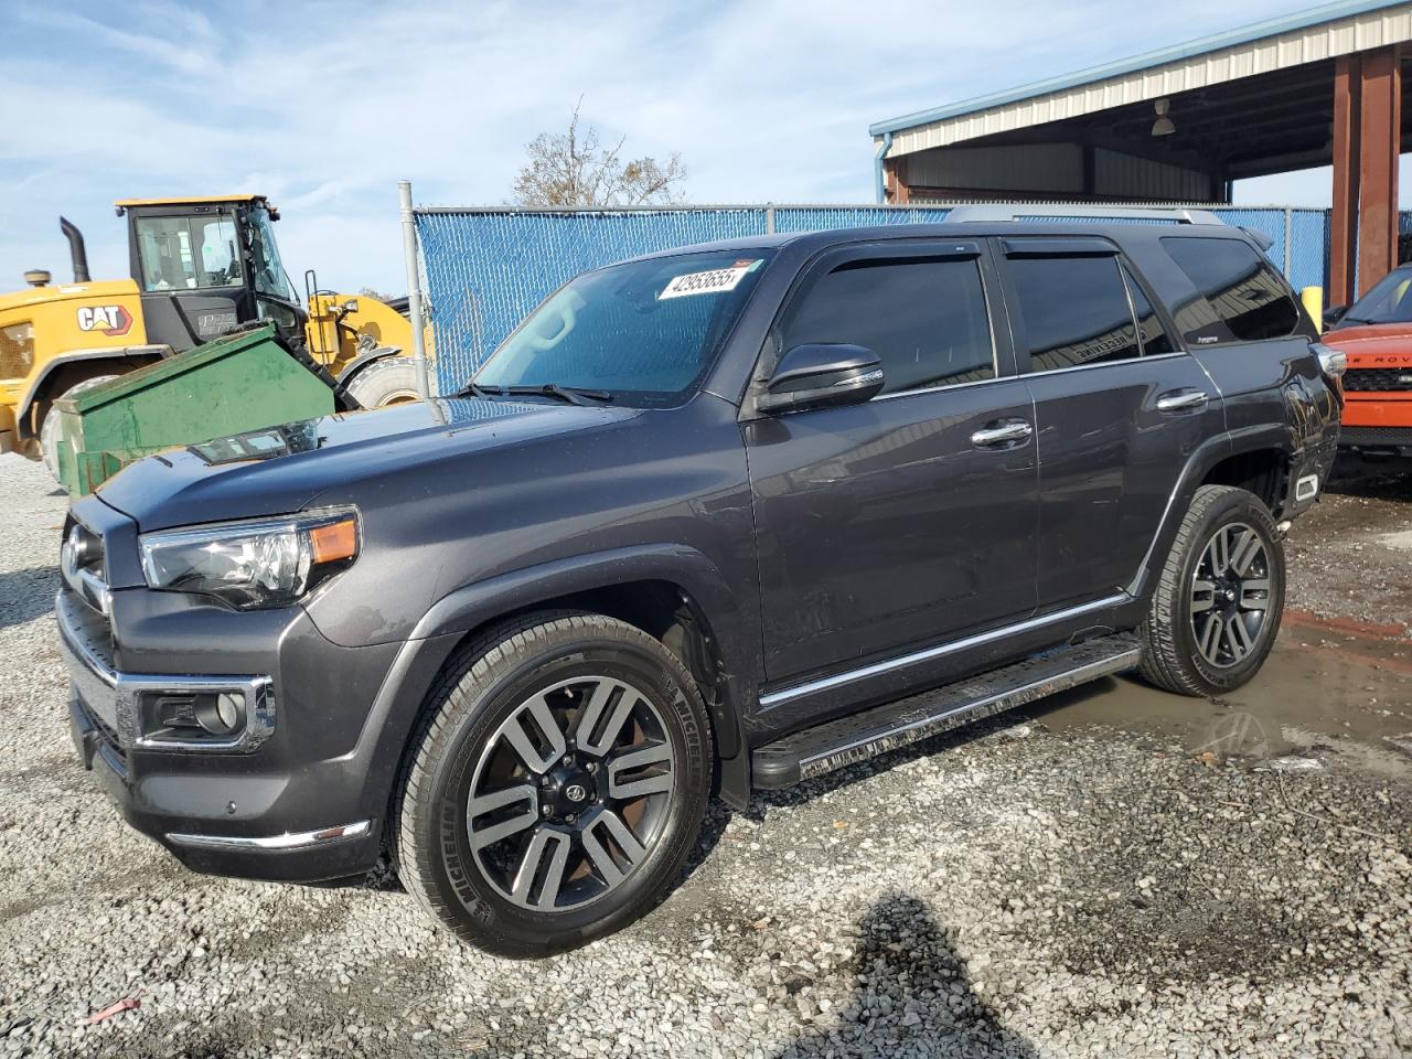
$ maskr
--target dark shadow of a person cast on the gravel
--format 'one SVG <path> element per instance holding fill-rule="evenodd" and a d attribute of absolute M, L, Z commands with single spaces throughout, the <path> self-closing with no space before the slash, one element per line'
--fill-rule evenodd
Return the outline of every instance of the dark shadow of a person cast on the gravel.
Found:
<path fill-rule="evenodd" d="M 925 904 L 888 894 L 860 926 L 857 993 L 842 1007 L 837 1028 L 818 1027 L 774 1052 L 774 1059 L 1039 1055 L 976 994 L 952 932 Z"/>

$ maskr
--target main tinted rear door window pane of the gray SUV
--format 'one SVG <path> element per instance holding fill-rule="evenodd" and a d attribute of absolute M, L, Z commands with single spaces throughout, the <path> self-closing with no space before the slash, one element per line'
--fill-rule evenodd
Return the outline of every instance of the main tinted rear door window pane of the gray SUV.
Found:
<path fill-rule="evenodd" d="M 1139 356 L 1115 257 L 1015 257 L 1010 271 L 1029 345 L 1029 370 Z"/>

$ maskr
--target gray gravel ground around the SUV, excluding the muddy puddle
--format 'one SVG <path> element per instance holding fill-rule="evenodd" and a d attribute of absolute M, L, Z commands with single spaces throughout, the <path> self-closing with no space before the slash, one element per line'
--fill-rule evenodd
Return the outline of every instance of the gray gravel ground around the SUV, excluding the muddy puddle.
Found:
<path fill-rule="evenodd" d="M 1319 562 L 1292 606 L 1406 620 L 1412 552 L 1378 537 L 1406 500 L 1334 496 L 1296 527 Z M 186 873 L 75 764 L 62 513 L 40 467 L 0 460 L 0 657 L 21 678 L 0 690 L 0 1056 L 1412 1053 L 1412 781 L 1319 747 L 1257 771 L 1032 709 L 716 809 L 666 904 L 538 963 L 457 945 L 395 884 Z M 1401 559 L 1357 566 L 1377 592 L 1332 573 L 1340 528 Z"/>

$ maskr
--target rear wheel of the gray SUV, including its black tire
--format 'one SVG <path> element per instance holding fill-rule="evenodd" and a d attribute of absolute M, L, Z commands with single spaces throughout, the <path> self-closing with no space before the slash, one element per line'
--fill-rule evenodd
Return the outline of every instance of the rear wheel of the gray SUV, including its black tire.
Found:
<path fill-rule="evenodd" d="M 1182 695 L 1220 695 L 1269 655 L 1285 606 L 1285 554 L 1254 494 L 1203 486 L 1182 520 L 1142 624 L 1142 676 Z"/>

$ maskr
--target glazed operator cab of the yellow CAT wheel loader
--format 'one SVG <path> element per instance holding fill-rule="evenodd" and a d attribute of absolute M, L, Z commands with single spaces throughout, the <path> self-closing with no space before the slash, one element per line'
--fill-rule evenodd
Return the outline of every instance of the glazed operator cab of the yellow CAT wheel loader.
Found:
<path fill-rule="evenodd" d="M 280 261 L 274 222 L 261 195 L 123 199 L 133 280 L 147 339 L 178 353 L 239 323 L 274 321 L 288 336 L 306 313 Z"/>

